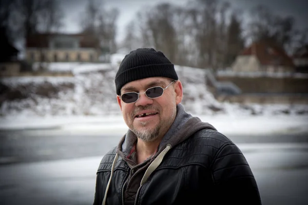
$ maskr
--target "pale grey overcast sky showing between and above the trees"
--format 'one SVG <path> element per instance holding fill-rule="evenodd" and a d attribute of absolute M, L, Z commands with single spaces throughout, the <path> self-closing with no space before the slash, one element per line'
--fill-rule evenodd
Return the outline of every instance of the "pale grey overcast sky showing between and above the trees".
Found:
<path fill-rule="evenodd" d="M 306 27 L 308 20 L 308 1 L 307 0 L 227 0 L 234 8 L 242 9 L 248 12 L 249 9 L 257 6 L 258 4 L 265 5 L 273 12 L 279 15 L 287 16 L 292 15 L 296 19 L 296 27 Z M 65 14 L 63 32 L 79 32 L 80 31 L 80 16 L 82 15 L 87 0 L 62 0 L 61 8 Z M 118 35 L 117 40 L 124 36 L 124 28 L 135 14 L 144 6 L 153 6 L 158 3 L 171 3 L 175 5 L 186 5 L 188 0 L 105 0 L 106 8 L 118 8 L 120 16 L 118 18 Z"/>

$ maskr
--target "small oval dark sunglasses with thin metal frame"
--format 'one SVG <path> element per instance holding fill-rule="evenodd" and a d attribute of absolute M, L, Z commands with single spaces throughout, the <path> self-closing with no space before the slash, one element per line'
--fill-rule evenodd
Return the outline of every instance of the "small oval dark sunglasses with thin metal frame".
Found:
<path fill-rule="evenodd" d="M 164 90 L 166 90 L 175 81 L 177 80 L 172 81 L 166 88 L 156 86 L 156 87 L 148 88 L 145 92 L 142 92 L 142 93 L 136 93 L 136 92 L 123 93 L 120 96 L 120 99 L 122 99 L 122 101 L 127 104 L 135 103 L 139 99 L 140 94 L 143 94 L 143 93 L 145 93 L 145 95 L 148 98 L 157 98 L 157 97 L 162 96 L 164 94 Z"/>

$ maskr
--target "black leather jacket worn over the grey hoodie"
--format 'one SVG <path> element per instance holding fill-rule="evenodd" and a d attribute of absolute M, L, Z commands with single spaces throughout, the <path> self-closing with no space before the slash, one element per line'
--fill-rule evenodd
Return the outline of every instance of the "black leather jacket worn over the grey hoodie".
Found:
<path fill-rule="evenodd" d="M 93 204 L 102 204 L 115 148 L 102 159 Z M 115 162 L 106 204 L 123 204 L 130 172 Z M 239 148 L 221 133 L 203 129 L 170 149 L 138 189 L 135 204 L 261 204 L 256 180 Z"/>

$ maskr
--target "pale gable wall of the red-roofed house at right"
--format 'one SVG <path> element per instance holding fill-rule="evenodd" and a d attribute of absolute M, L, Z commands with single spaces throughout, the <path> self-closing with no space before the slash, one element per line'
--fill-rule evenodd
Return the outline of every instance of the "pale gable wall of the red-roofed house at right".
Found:
<path fill-rule="evenodd" d="M 261 67 L 259 60 L 255 56 L 240 55 L 235 59 L 232 70 L 235 72 L 255 72 L 261 71 Z"/>

